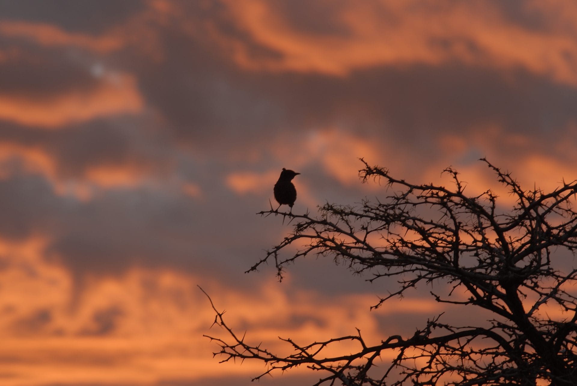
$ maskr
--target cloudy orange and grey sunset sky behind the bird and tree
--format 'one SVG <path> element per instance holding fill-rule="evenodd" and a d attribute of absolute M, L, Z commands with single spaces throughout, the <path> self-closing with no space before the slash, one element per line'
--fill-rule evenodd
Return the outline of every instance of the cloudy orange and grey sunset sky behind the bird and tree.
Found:
<path fill-rule="evenodd" d="M 395 283 L 331 257 L 244 273 L 291 231 L 256 215 L 282 168 L 295 213 L 384 194 L 358 158 L 551 189 L 577 178 L 576 103 L 573 1 L 1 0 L 1 383 L 251 384 L 197 285 L 279 352 L 412 335 L 428 288 L 369 311 Z"/>

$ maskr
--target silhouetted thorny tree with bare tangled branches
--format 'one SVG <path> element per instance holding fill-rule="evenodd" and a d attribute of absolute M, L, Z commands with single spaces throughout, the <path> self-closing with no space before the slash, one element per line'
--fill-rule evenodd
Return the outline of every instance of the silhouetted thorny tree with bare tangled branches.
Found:
<path fill-rule="evenodd" d="M 282 278 L 283 268 L 298 258 L 332 256 L 355 272 L 368 273 L 370 282 L 397 279 L 397 290 L 375 308 L 418 283 L 441 281 L 447 290 L 430 292 L 437 302 L 467 312 L 482 308 L 493 314 L 492 320 L 457 327 L 435 317 L 413 336 L 389 336 L 375 346 L 366 344 L 360 331 L 310 344 L 283 339 L 294 352 L 279 357 L 246 342 L 215 309 L 215 323 L 230 335 L 209 337 L 220 345 L 215 355 L 222 355 L 223 362 L 239 358 L 267 363 L 266 371 L 253 380 L 304 365 L 320 371 L 316 385 L 577 384 L 577 269 L 563 272 L 554 264 L 554 252 L 577 248 L 577 212 L 571 207 L 577 181 L 563 182 L 550 193 L 523 190 L 509 173 L 482 159 L 515 199 L 512 208 L 501 210 L 491 190 L 468 196 L 452 168 L 445 170 L 452 180 L 447 188 L 414 185 L 361 161 L 361 178 L 385 182 L 385 198 L 365 200 L 358 207 L 326 204 L 319 216 L 280 213 L 295 221 L 294 233 L 247 272 L 274 263 Z M 276 212 L 260 212 L 269 213 Z M 282 257 L 296 241 L 306 241 L 306 247 Z M 565 267 L 571 264 L 564 261 Z M 549 317 L 544 308 L 552 306 L 562 310 L 563 317 Z M 357 342 L 358 352 L 323 355 L 325 348 L 343 340 Z M 388 350 L 398 355 L 391 363 L 381 362 L 380 355 Z"/>

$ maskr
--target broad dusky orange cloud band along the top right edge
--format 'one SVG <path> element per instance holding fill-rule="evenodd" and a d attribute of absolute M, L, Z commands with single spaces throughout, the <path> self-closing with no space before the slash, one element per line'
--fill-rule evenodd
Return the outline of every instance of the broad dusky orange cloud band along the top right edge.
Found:
<path fill-rule="evenodd" d="M 492 3 L 440 6 L 434 1 L 327 3 L 326 17 L 342 34 L 310 33 L 291 24 L 275 3 L 228 1 L 237 23 L 263 47 L 280 55 L 255 57 L 241 40 L 212 29 L 244 68 L 269 71 L 320 72 L 344 76 L 377 65 L 460 61 L 501 69 L 525 68 L 561 83 L 577 84 L 573 13 L 565 27 L 555 28 L 557 6 L 530 2 L 551 21 L 547 31 L 512 24 Z M 434 21 L 434 22 L 432 22 Z M 571 24 L 569 24 L 571 23 Z"/>

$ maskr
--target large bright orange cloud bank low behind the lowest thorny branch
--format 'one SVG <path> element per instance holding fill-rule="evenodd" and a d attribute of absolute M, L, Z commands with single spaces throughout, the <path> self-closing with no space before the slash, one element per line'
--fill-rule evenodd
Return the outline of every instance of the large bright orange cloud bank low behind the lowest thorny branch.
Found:
<path fill-rule="evenodd" d="M 212 358 L 217 347 L 203 333 L 224 335 L 219 328 L 209 330 L 214 315 L 197 283 L 219 309 L 227 310 L 228 323 L 246 327 L 251 342 L 264 342 L 279 353 L 291 350 L 279 342 L 279 335 L 305 343 L 349 335 L 358 327 L 368 342 L 378 343 L 384 328 L 379 315 L 438 312 L 433 302 L 411 298 L 369 312 L 374 295 L 296 289 L 289 295 L 290 288 L 273 278 L 256 291 L 243 291 L 170 269 L 132 268 L 119 276 L 93 276 L 80 290 L 65 267 L 44 258 L 47 245 L 42 237 L 0 239 L 0 357 L 11 358 L 0 361 L 5 385 L 152 385 L 215 376 L 248 381 L 263 371 L 262 363 L 220 365 Z M 343 344 L 325 354 L 357 348 Z M 383 353 L 383 358 L 393 355 Z"/>

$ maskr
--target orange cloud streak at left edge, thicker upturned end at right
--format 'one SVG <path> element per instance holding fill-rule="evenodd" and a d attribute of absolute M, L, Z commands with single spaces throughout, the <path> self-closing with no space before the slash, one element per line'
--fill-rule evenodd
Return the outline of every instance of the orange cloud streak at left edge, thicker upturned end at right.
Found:
<path fill-rule="evenodd" d="M 128 74 L 116 74 L 96 89 L 72 91 L 50 99 L 32 99 L 0 93 L 0 119 L 35 128 L 63 125 L 115 114 L 136 114 L 143 100 L 137 82 Z"/>

